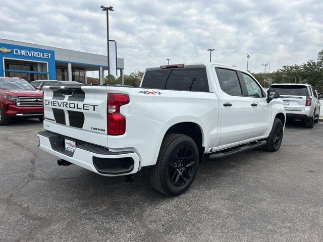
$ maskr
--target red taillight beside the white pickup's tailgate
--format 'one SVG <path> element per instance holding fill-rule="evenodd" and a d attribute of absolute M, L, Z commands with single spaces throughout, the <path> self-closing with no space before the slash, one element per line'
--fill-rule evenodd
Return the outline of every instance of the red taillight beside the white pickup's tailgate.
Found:
<path fill-rule="evenodd" d="M 129 96 L 120 93 L 107 94 L 107 134 L 123 135 L 126 132 L 126 117 L 120 107 L 129 103 Z"/>

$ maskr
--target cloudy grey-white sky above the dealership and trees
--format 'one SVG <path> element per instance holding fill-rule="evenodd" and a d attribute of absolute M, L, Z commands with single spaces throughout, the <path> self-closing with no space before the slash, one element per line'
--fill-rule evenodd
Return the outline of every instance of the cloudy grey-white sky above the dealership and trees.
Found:
<path fill-rule="evenodd" d="M 316 59 L 323 49 L 323 1 L 2 1 L 0 38 L 98 54 L 117 40 L 125 73 L 151 65 L 212 61 L 263 72 Z"/>

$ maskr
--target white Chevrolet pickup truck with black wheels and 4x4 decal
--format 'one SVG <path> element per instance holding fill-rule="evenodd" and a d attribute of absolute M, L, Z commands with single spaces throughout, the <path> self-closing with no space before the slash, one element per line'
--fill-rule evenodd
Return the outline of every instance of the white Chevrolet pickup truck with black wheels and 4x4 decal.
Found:
<path fill-rule="evenodd" d="M 39 147 L 59 165 L 129 179 L 148 169 L 169 196 L 191 186 L 204 155 L 277 151 L 286 119 L 278 91 L 213 63 L 148 68 L 139 88 L 52 85 L 43 95 Z"/>

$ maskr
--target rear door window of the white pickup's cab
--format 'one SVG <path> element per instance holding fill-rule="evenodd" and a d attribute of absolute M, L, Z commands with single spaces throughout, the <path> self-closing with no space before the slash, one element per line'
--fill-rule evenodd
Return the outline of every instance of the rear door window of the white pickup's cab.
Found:
<path fill-rule="evenodd" d="M 242 95 L 238 75 L 235 71 L 218 68 L 220 85 L 223 91 L 229 95 Z"/>

